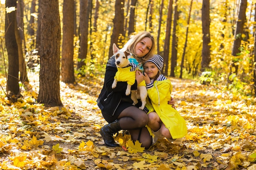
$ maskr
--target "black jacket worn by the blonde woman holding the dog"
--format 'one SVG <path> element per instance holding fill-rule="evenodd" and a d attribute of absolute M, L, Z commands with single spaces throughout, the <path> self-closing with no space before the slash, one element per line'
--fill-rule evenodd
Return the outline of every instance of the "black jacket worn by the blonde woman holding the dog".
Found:
<path fill-rule="evenodd" d="M 117 66 L 115 65 L 115 56 L 113 55 L 108 60 L 106 66 L 106 73 L 104 78 L 103 88 L 97 99 L 97 104 L 103 113 L 110 116 L 115 114 L 115 110 L 119 106 L 120 102 L 133 103 L 130 95 L 126 96 L 127 82 L 117 82 L 116 88 L 112 88 L 114 77 L 117 72 Z M 137 90 L 137 81 L 132 85 L 131 90 Z"/>

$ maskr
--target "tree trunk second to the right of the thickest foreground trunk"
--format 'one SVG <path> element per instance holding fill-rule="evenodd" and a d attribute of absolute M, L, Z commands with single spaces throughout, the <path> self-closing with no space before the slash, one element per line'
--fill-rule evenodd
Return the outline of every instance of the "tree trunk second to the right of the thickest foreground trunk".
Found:
<path fill-rule="evenodd" d="M 77 70 L 85 66 L 85 59 L 87 57 L 88 51 L 88 28 L 89 28 L 89 5 L 88 1 L 91 0 L 81 0 L 80 1 L 80 19 L 79 19 L 79 29 L 80 29 L 80 48 L 77 62 Z"/>

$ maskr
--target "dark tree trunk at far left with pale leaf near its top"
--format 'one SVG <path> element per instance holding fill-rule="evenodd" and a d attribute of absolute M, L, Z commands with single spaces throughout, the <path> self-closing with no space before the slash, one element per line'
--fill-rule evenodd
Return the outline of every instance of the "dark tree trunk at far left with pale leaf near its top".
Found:
<path fill-rule="evenodd" d="M 16 0 L 5 1 L 5 7 L 15 7 Z M 8 54 L 7 97 L 16 102 L 20 96 L 19 88 L 19 55 L 15 37 L 16 11 L 5 13 L 5 46 Z"/>

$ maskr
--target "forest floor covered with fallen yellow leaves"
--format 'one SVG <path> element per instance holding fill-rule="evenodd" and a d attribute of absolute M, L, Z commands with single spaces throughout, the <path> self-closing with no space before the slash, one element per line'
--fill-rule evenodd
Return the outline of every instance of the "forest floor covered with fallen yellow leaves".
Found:
<path fill-rule="evenodd" d="M 3 89 L 0 93 L 0 169 L 256 170 L 255 98 L 171 79 L 175 105 L 188 127 L 182 145 L 162 139 L 145 150 L 119 133 L 120 147 L 108 148 L 99 134 L 107 122 L 96 103 L 102 78 L 61 82 L 63 107 L 46 108 L 36 103 L 34 76 L 15 104 Z"/>

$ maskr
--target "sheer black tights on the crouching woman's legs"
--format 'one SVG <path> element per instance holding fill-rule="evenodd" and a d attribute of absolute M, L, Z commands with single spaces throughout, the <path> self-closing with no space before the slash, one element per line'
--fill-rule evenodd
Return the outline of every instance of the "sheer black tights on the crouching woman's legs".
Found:
<path fill-rule="evenodd" d="M 145 127 L 148 123 L 148 115 L 135 106 L 124 109 L 118 117 L 121 129 L 128 130 L 132 141 L 139 140 L 141 147 L 149 148 L 152 144 L 152 136 Z"/>

